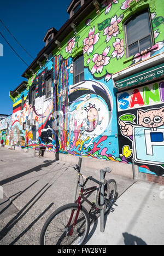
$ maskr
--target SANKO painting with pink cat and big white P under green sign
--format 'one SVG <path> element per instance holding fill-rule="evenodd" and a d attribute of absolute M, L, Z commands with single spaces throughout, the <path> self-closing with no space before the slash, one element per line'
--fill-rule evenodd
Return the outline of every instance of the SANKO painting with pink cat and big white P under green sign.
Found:
<path fill-rule="evenodd" d="M 139 171 L 164 174 L 164 82 L 118 94 L 119 149 Z"/>

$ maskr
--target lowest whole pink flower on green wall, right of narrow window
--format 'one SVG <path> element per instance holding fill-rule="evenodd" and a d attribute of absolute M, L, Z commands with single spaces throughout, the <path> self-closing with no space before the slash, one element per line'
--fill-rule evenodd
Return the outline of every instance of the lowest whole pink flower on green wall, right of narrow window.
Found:
<path fill-rule="evenodd" d="M 109 51 L 110 51 L 110 46 L 109 47 L 107 46 L 107 48 L 103 51 L 102 54 L 93 55 L 92 61 L 95 63 L 95 65 L 91 69 L 92 74 L 95 74 L 95 72 L 101 73 L 103 70 L 103 66 L 106 66 L 109 64 L 110 57 L 107 56 Z"/>

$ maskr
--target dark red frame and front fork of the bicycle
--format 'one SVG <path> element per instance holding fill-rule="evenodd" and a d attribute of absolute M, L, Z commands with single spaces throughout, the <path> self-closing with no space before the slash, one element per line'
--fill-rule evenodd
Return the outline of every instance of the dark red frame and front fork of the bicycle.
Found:
<path fill-rule="evenodd" d="M 87 182 L 87 181 L 86 181 Z M 85 184 L 86 184 L 85 182 Z M 87 203 L 89 203 L 90 206 L 92 206 L 93 208 L 95 208 L 95 210 L 97 210 L 97 207 L 91 203 L 89 200 L 86 199 L 86 195 L 92 193 L 93 191 L 95 191 L 97 189 L 97 186 L 93 186 L 93 187 L 90 187 L 90 188 L 84 188 L 82 187 L 81 190 L 80 190 L 80 193 L 79 193 L 79 197 L 78 199 L 75 201 L 75 203 L 78 203 L 78 210 L 77 210 L 77 214 L 75 216 L 75 219 L 74 219 L 74 223 L 73 223 L 73 226 L 71 228 L 71 230 L 68 232 L 68 235 L 72 236 L 73 234 L 73 228 L 74 226 L 76 225 L 77 223 L 77 219 L 78 219 L 78 216 L 79 216 L 79 212 L 80 212 L 80 207 L 81 207 L 81 199 L 83 199 L 84 201 L 86 201 Z M 73 218 L 73 215 L 74 215 L 74 210 L 72 211 L 71 213 L 71 217 L 69 219 L 69 222 L 67 224 L 67 228 L 69 228 L 69 226 L 71 225 L 71 222 L 72 222 L 72 218 Z"/>

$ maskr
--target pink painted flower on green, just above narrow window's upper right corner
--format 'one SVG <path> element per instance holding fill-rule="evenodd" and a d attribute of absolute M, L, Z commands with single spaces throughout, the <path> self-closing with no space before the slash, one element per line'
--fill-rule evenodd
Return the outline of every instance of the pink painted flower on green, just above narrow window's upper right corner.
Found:
<path fill-rule="evenodd" d="M 90 32 L 88 34 L 88 37 L 86 37 L 83 40 L 83 51 L 84 54 L 87 53 L 87 55 L 89 55 L 90 53 L 92 53 L 94 47 L 93 45 L 95 45 L 99 40 L 99 33 L 95 34 L 95 26 L 93 27 L 93 29 L 90 29 Z"/>

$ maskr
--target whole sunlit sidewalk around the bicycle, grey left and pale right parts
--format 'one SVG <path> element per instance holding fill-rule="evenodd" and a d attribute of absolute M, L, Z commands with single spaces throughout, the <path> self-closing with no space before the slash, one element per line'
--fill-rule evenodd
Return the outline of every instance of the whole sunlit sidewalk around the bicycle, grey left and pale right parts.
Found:
<path fill-rule="evenodd" d="M 81 172 L 99 179 L 99 170 L 83 168 Z M 134 183 L 113 173 L 107 174 L 109 178 L 118 185 L 118 206 L 108 215 L 104 233 L 99 232 L 99 219 L 91 226 L 86 244 L 124 244 L 122 233 L 126 232 L 138 237 L 145 232 L 147 237 L 141 238 L 146 243 L 162 242 L 160 186 Z M 0 185 L 5 196 L 0 199 L 0 245 L 39 245 L 45 220 L 58 207 L 73 201 L 76 181 L 77 173 L 69 163 L 0 148 Z M 89 210 L 88 205 L 84 206 Z"/>

